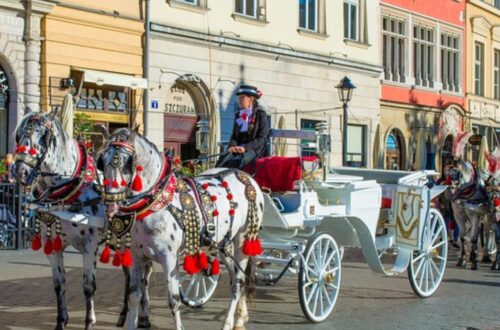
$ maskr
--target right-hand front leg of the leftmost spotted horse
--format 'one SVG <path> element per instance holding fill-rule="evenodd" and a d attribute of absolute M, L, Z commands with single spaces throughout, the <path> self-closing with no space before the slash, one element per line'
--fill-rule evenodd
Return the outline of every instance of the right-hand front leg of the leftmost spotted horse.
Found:
<path fill-rule="evenodd" d="M 95 270 L 97 262 L 97 240 L 91 239 L 82 251 L 83 257 L 83 292 L 85 294 L 85 330 L 92 329 L 96 323 L 94 295 L 96 291 Z"/>

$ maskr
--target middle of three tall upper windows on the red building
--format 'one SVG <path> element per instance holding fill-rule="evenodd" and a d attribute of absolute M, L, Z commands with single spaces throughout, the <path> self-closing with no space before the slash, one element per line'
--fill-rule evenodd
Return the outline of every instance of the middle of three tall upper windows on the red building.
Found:
<path fill-rule="evenodd" d="M 434 30 L 413 27 L 413 76 L 415 85 L 434 87 Z"/>

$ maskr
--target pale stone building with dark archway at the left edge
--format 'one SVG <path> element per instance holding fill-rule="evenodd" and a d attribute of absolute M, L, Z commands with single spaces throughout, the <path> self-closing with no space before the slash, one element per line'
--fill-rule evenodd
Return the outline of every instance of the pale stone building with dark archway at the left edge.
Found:
<path fill-rule="evenodd" d="M 0 156 L 14 149 L 13 132 L 26 111 L 40 109 L 42 0 L 0 3 Z"/>

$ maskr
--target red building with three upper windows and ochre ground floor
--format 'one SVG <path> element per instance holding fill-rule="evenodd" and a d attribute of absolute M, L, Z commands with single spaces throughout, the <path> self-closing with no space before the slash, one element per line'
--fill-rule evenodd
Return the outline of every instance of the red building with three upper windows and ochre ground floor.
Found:
<path fill-rule="evenodd" d="M 441 170 L 464 130 L 465 0 L 381 2 L 386 169 Z"/>

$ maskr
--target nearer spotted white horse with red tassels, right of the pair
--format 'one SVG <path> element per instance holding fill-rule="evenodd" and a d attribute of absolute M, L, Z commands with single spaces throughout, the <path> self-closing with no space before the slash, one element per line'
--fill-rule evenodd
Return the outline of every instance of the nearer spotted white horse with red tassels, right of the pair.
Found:
<path fill-rule="evenodd" d="M 188 274 L 216 275 L 217 256 L 222 259 L 232 285 L 223 329 L 244 329 L 247 297 L 251 298 L 255 284 L 255 261 L 249 256 L 262 252 L 257 235 L 264 201 L 256 182 L 244 172 L 229 169 L 212 169 L 194 179 L 183 177 L 151 142 L 128 129 L 110 136 L 97 166 L 104 173 L 110 223 L 123 228 L 130 224 L 128 215 L 135 217 L 130 233 L 121 240 L 122 253 L 131 250 L 133 255 L 128 329 L 135 329 L 140 282 L 152 260 L 163 268 L 175 328 L 183 329 L 178 263 L 182 252 Z"/>

